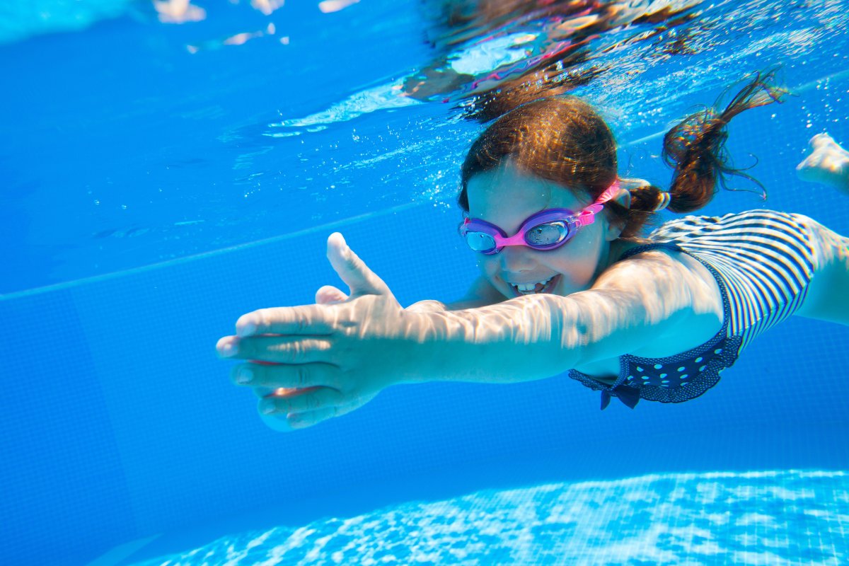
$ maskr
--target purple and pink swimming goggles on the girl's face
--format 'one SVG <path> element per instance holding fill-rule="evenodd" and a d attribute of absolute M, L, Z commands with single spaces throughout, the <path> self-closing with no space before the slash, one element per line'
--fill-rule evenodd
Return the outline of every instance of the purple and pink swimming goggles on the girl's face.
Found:
<path fill-rule="evenodd" d="M 541 251 L 557 249 L 568 242 L 578 228 L 592 224 L 595 215 L 604 209 L 604 203 L 618 190 L 619 182 L 614 182 L 592 205 L 577 213 L 560 208 L 540 210 L 522 222 L 519 232 L 513 236 L 479 218 L 466 218 L 460 225 L 460 235 L 469 248 L 486 255 L 498 254 L 507 245 L 523 245 Z"/>

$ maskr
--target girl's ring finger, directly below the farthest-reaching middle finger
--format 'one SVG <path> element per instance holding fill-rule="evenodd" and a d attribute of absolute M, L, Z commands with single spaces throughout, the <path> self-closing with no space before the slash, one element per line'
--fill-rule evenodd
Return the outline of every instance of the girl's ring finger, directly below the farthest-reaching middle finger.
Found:
<path fill-rule="evenodd" d="M 245 363 L 233 367 L 233 382 L 262 389 L 316 387 L 324 385 L 338 389 L 339 368 L 326 363 L 278 364 L 273 366 Z"/>

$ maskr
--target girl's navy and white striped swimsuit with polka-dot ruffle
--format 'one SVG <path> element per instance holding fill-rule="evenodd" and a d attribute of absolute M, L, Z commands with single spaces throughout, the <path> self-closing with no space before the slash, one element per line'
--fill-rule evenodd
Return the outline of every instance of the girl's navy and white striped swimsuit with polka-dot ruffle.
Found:
<path fill-rule="evenodd" d="M 694 257 L 717 280 L 722 328 L 705 344 L 664 358 L 620 356 L 612 385 L 571 370 L 569 377 L 601 391 L 601 408 L 617 397 L 634 407 L 640 399 L 678 403 L 703 394 L 760 333 L 790 317 L 805 300 L 816 263 L 804 216 L 749 210 L 726 216 L 686 216 L 649 235 L 649 249 L 674 249 Z"/>

